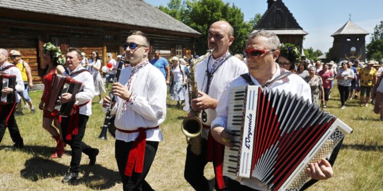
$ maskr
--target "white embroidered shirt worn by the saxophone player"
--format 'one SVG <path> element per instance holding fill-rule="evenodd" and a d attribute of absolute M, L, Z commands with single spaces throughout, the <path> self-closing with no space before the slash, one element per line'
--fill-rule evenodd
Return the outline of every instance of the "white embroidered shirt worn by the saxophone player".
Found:
<path fill-rule="evenodd" d="M 230 54 L 227 52 L 227 54 Z M 225 54 L 226 55 L 226 54 Z M 208 60 L 209 65 L 207 66 Z M 197 88 L 199 91 L 206 92 L 206 86 L 207 86 L 207 76 L 206 76 L 206 69 L 208 71 L 211 71 L 212 64 L 215 60 L 212 59 L 212 57 L 208 57 L 205 60 L 203 60 L 200 63 L 197 63 L 195 66 L 195 78 L 197 82 Z M 223 61 L 223 60 L 222 60 Z M 247 73 L 248 69 L 247 66 L 238 58 L 236 57 L 230 57 L 225 62 L 219 62 L 218 65 L 216 65 L 216 72 L 211 77 L 211 84 L 209 88 L 208 95 L 211 98 L 219 99 L 221 97 L 221 94 L 223 90 L 225 89 L 226 85 L 235 77 L 238 75 L 241 75 L 243 73 Z M 222 65 L 222 66 L 220 66 Z M 207 67 L 207 68 L 206 68 Z M 185 91 L 185 103 L 186 106 L 183 108 L 184 111 L 189 111 L 189 95 L 188 91 Z M 216 118 L 216 111 L 207 109 L 205 110 L 207 114 L 207 118 L 205 120 L 202 120 L 202 123 L 204 125 L 210 125 L 211 121 Z M 202 112 L 201 112 L 202 113 Z M 202 137 L 204 139 L 207 139 L 208 137 L 209 129 L 203 128 L 202 131 Z"/>

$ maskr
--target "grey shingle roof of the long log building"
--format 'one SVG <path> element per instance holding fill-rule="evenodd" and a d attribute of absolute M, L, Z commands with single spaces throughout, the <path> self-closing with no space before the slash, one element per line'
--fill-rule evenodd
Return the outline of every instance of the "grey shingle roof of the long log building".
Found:
<path fill-rule="evenodd" d="M 200 35 L 142 0 L 2 0 L 0 8 Z"/>

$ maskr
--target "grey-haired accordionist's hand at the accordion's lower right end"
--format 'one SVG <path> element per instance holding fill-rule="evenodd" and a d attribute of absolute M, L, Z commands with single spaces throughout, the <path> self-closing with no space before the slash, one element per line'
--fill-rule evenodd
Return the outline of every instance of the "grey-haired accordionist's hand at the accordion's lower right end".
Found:
<path fill-rule="evenodd" d="M 324 158 L 320 162 L 309 163 L 306 172 L 309 177 L 316 180 L 326 180 L 333 176 L 332 167 Z"/>

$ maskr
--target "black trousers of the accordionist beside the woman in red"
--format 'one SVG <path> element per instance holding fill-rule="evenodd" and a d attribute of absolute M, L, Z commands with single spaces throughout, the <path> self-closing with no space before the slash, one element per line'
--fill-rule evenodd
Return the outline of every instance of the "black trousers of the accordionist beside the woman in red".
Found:
<path fill-rule="evenodd" d="M 94 152 L 94 149 L 92 149 L 89 145 L 85 144 L 82 141 L 82 139 L 84 138 L 85 127 L 86 123 L 88 122 L 89 116 L 80 114 L 78 134 L 72 134 L 72 139 L 70 141 L 65 139 L 69 119 L 69 117 L 61 118 L 62 137 L 64 138 L 64 142 L 70 145 L 70 148 L 72 149 L 72 159 L 70 160 L 69 171 L 78 173 L 80 172 L 80 161 L 82 152 L 88 156 L 93 154 Z"/>

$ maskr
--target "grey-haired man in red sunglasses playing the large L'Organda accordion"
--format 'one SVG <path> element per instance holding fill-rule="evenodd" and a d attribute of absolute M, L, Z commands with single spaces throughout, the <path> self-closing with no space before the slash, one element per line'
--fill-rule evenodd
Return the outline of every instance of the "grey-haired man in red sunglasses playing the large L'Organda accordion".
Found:
<path fill-rule="evenodd" d="M 264 86 L 269 90 L 291 92 L 304 99 L 311 100 L 311 91 L 308 84 L 296 74 L 279 78 L 281 73 L 286 72 L 275 62 L 279 56 L 279 39 L 272 33 L 264 30 L 249 35 L 246 49 L 244 51 L 249 68 L 247 79 L 238 76 L 225 88 L 217 106 L 217 118 L 211 123 L 211 135 L 219 143 L 232 147 L 231 135 L 224 131 L 227 124 L 230 91 L 232 88 L 248 86 L 250 83 L 256 86 Z M 273 79 L 276 79 L 270 83 Z M 286 116 L 289 117 L 289 116 Z M 306 169 L 307 174 L 317 180 L 328 179 L 332 176 L 330 163 L 322 159 L 318 163 L 310 163 Z M 243 178 L 241 182 L 236 181 L 236 176 L 230 176 L 227 181 L 228 190 L 268 190 L 267 186 L 255 179 Z"/>

